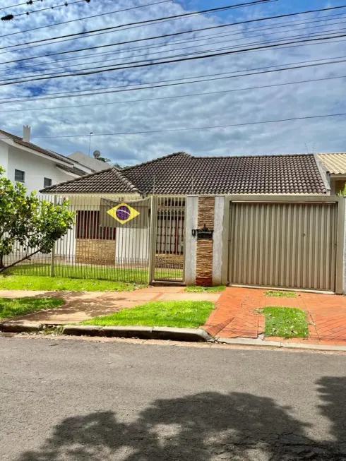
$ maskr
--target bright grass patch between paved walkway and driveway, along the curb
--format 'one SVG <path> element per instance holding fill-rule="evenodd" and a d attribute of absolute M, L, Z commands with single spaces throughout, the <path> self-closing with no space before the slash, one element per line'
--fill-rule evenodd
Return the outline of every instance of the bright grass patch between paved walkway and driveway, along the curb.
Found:
<path fill-rule="evenodd" d="M 94 317 L 81 324 L 198 328 L 204 325 L 213 307 L 214 304 L 208 301 L 152 301 L 110 316 Z"/>

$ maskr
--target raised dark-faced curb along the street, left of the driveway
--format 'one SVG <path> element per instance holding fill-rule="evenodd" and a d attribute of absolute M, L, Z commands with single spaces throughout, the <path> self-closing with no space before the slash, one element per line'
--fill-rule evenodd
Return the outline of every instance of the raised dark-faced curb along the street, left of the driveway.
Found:
<path fill-rule="evenodd" d="M 39 333 L 49 328 L 61 327 L 61 335 L 68 336 L 102 336 L 139 338 L 141 340 L 171 340 L 187 342 L 208 342 L 213 338 L 202 328 L 169 327 L 99 327 L 96 325 L 42 325 L 36 322 L 0 323 L 4 333 Z"/>

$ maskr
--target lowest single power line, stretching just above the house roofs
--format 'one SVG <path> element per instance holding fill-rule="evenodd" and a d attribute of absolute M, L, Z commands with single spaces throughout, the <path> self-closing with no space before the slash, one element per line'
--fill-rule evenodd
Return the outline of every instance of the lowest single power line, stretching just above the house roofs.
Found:
<path fill-rule="evenodd" d="M 133 135 L 133 134 L 149 134 L 149 133 L 174 133 L 177 131 L 213 130 L 215 128 L 232 128 L 236 126 L 276 124 L 276 123 L 281 123 L 283 121 L 326 119 L 327 117 L 337 117 L 337 116 L 346 116 L 346 112 L 340 113 L 340 114 L 323 114 L 323 115 L 311 115 L 311 116 L 304 116 L 304 117 L 291 117 L 290 119 L 251 121 L 251 122 L 242 123 L 242 124 L 194 126 L 193 128 L 168 128 L 167 130 L 125 131 L 125 132 L 119 132 L 119 133 L 93 133 L 93 137 L 95 136 L 126 136 L 126 135 Z M 82 134 L 82 135 L 59 135 L 59 136 L 33 136 L 33 138 L 35 139 L 85 138 L 88 136 L 89 136 L 88 134 Z"/>

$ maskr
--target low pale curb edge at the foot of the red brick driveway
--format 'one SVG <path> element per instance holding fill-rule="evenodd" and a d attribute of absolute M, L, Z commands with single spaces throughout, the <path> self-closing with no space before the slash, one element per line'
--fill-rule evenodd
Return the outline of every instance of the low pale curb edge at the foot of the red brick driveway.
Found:
<path fill-rule="evenodd" d="M 247 337 L 224 337 L 224 338 L 217 338 L 216 342 L 218 344 L 227 344 L 227 345 L 234 345 L 234 346 L 259 346 L 263 348 L 277 348 L 277 349 L 302 349 L 302 350 L 310 350 L 310 351 L 338 351 L 338 352 L 346 352 L 346 344 L 345 346 L 333 346 L 333 345 L 316 345 L 316 344 L 302 344 L 298 342 L 279 342 L 279 341 L 263 341 L 263 340 L 255 340 Z"/>

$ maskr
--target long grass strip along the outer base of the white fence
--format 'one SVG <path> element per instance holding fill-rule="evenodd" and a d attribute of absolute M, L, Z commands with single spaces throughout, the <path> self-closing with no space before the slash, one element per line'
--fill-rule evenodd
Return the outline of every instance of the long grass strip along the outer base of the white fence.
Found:
<path fill-rule="evenodd" d="M 33 275 L 0 276 L 0 289 L 28 289 L 71 292 L 130 292 L 140 285 L 109 280 L 42 277 Z"/>

